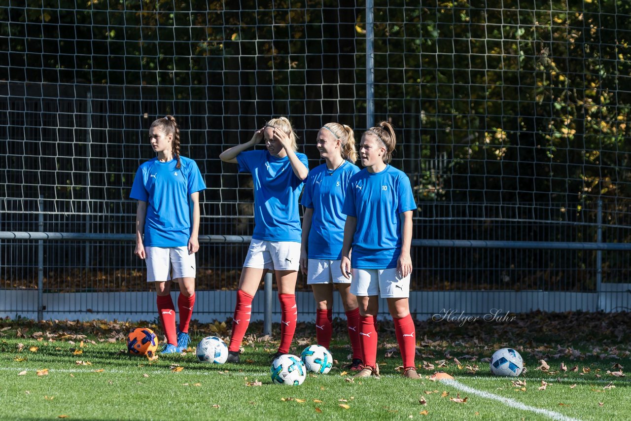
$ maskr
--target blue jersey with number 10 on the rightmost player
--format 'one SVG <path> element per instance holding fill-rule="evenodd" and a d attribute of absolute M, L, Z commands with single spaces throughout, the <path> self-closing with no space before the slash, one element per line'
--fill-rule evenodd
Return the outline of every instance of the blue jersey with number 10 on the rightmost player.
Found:
<path fill-rule="evenodd" d="M 415 210 L 408 176 L 387 165 L 377 173 L 363 169 L 351 177 L 342 212 L 357 218 L 351 266 L 396 268 L 401 254 L 401 213 Z"/>

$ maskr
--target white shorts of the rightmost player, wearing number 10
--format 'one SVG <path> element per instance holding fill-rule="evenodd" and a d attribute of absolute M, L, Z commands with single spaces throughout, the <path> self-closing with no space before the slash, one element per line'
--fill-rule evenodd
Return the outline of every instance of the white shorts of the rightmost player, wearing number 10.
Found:
<path fill-rule="evenodd" d="M 350 292 L 358 297 L 379 295 L 382 298 L 409 298 L 410 275 L 401 278 L 401 273 L 397 268 L 353 268 L 353 282 Z"/>

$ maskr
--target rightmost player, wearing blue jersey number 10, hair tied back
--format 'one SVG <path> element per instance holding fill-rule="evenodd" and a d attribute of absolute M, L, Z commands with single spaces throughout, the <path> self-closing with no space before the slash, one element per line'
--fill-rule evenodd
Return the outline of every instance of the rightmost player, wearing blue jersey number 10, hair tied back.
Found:
<path fill-rule="evenodd" d="M 416 203 L 408 176 L 389 165 L 394 146 L 394 129 L 386 121 L 363 133 L 360 159 L 365 168 L 351 177 L 342 209 L 347 217 L 341 271 L 346 278 L 352 272 L 351 293 L 357 295 L 360 309 L 364 369 L 355 377 L 379 375 L 375 329 L 379 294 L 386 298 L 394 319 L 403 375 L 419 378 L 414 365 L 415 327 L 408 302 L 412 211 Z"/>

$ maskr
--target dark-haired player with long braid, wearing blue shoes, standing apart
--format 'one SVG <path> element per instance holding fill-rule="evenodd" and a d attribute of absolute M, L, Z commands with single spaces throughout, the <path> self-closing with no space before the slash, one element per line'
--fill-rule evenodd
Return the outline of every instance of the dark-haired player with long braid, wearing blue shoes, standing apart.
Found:
<path fill-rule="evenodd" d="M 158 314 L 167 336 L 162 353 L 180 353 L 191 341 L 199 192 L 206 184 L 195 161 L 180 155 L 180 129 L 173 116 L 151 123 L 149 141 L 158 156 L 140 165 L 129 195 L 138 200 L 134 254 L 146 261 L 147 282 L 153 282 L 158 293 Z M 171 282 L 180 285 L 179 329 Z"/>

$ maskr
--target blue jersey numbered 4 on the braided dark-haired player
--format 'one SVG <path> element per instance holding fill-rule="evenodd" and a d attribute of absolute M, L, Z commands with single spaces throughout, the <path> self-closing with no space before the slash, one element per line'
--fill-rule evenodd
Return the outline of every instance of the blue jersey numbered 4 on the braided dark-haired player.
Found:
<path fill-rule="evenodd" d="M 206 189 L 194 160 L 180 157 L 160 162 L 153 158 L 136 171 L 131 199 L 147 202 L 144 220 L 144 245 L 155 247 L 187 246 L 191 237 L 191 194 Z"/>

